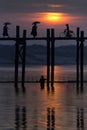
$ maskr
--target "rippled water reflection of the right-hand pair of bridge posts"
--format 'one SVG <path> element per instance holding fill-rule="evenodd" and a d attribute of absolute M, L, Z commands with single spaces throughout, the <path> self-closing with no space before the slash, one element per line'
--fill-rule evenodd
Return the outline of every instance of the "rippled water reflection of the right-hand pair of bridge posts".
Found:
<path fill-rule="evenodd" d="M 77 108 L 77 130 L 84 130 L 84 109 Z"/>

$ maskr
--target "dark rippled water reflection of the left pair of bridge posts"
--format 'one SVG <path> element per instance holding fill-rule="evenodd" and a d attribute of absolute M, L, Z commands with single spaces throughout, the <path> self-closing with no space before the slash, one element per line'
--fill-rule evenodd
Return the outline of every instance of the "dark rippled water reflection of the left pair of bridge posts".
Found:
<path fill-rule="evenodd" d="M 19 106 L 15 109 L 15 130 L 26 130 L 27 128 L 27 120 L 26 120 L 26 107 L 22 107 L 20 109 Z"/>

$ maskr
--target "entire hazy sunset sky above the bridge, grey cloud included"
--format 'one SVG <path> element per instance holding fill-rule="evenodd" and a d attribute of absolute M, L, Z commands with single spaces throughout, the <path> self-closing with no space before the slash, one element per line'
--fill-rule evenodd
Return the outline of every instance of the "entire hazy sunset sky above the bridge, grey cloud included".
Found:
<path fill-rule="evenodd" d="M 66 23 L 73 30 L 77 26 L 86 30 L 87 0 L 0 0 L 1 27 L 9 21 L 12 29 L 16 25 L 30 29 L 36 20 L 41 22 L 40 31 L 47 27 L 62 31 Z"/>

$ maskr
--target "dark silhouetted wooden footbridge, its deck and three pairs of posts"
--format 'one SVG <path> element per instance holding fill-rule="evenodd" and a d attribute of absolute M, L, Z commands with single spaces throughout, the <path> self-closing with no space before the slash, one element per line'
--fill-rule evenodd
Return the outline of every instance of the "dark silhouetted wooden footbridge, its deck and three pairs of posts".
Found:
<path fill-rule="evenodd" d="M 27 40 L 45 40 L 47 43 L 47 87 L 49 89 L 51 82 L 51 87 L 54 87 L 54 65 L 55 65 L 55 40 L 75 40 L 76 41 L 76 83 L 77 89 L 79 87 L 79 81 L 81 87 L 83 88 L 83 57 L 84 57 L 84 40 L 87 40 L 87 37 L 84 37 L 84 31 L 80 31 L 80 28 L 77 28 L 76 37 L 55 37 L 54 29 L 47 29 L 46 37 L 35 37 L 27 38 L 26 30 L 23 31 L 23 37 L 20 37 L 20 27 L 16 27 L 16 38 L 0 38 L 0 40 L 13 40 L 15 43 L 15 90 L 18 90 L 18 73 L 19 73 L 19 62 L 22 65 L 22 74 L 21 74 L 21 84 L 22 90 L 25 91 L 25 58 L 26 58 L 26 41 Z M 72 80 L 67 80 L 68 82 L 74 82 Z M 28 81 L 29 82 L 29 81 Z M 31 82 L 31 81 L 30 81 Z M 39 81 L 33 81 L 39 82 Z M 58 81 L 56 81 L 58 82 Z M 60 81 L 61 82 L 61 81 Z M 62 81 L 66 82 L 66 81 Z"/>

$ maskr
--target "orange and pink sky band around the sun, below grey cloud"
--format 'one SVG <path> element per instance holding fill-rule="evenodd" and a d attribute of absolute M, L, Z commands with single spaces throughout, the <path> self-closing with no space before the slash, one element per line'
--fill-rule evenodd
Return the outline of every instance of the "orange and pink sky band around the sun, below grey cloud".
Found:
<path fill-rule="evenodd" d="M 76 31 L 78 26 L 85 29 L 85 24 L 82 23 L 83 21 L 86 23 L 85 17 L 70 15 L 69 13 L 63 12 L 2 14 L 0 15 L 0 19 L 1 27 L 3 27 L 3 23 L 6 21 L 10 21 L 12 23 L 12 25 L 9 26 L 9 31 L 12 35 L 14 35 L 13 30 L 15 31 L 16 25 L 20 25 L 21 30 L 27 29 L 29 35 L 32 28 L 32 22 L 34 21 L 40 21 L 40 24 L 38 24 L 38 35 L 40 34 L 43 36 L 46 35 L 45 32 L 47 28 L 54 28 L 57 30 L 57 33 L 60 33 L 65 29 L 65 25 L 68 23 L 70 25 L 70 29 Z"/>

